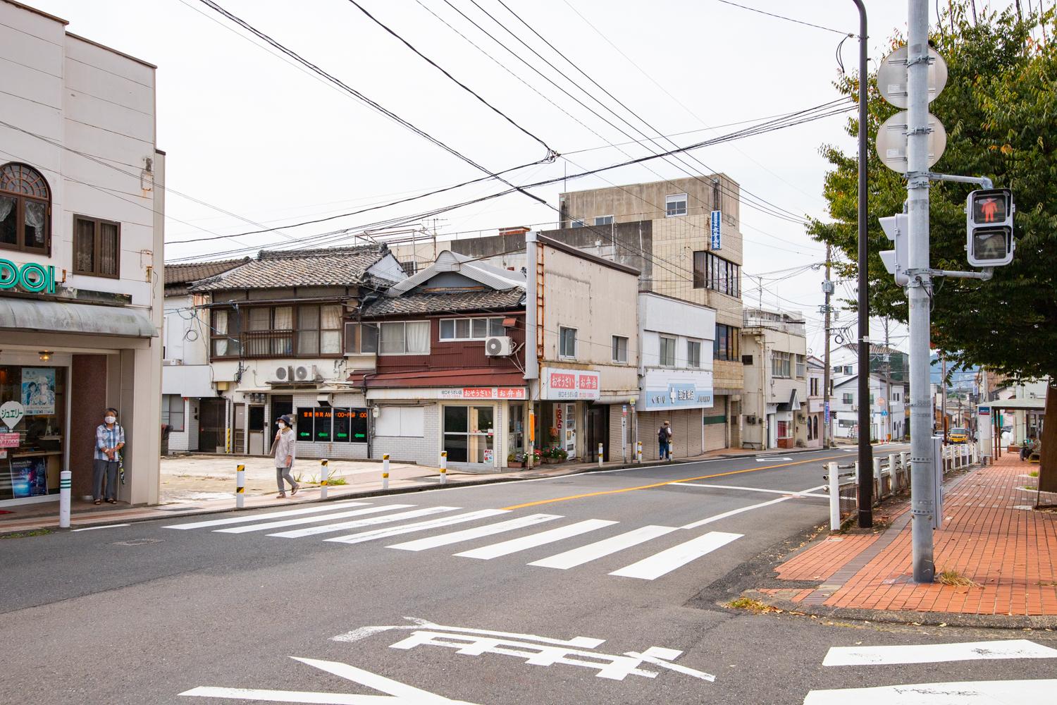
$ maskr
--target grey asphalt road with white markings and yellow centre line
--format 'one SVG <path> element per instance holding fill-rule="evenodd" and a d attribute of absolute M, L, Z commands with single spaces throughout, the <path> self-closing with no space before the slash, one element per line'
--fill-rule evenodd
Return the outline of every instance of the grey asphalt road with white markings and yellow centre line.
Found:
<path fill-rule="evenodd" d="M 1003 687 L 1018 705 L 1051 702 L 1057 683 L 1039 679 L 1057 679 L 1053 633 L 717 605 L 730 575 L 826 521 L 827 500 L 810 496 L 822 464 L 853 458 L 717 460 L 6 539 L 0 703 L 1013 702 L 967 699 Z M 1001 645 L 942 646 L 998 639 L 1030 642 L 1003 642 L 1002 658 Z M 926 648 L 830 651 L 915 644 Z M 1032 679 L 960 683 L 948 699 L 945 686 L 820 692 Z M 1050 695 L 1033 700 L 1033 687 Z"/>

